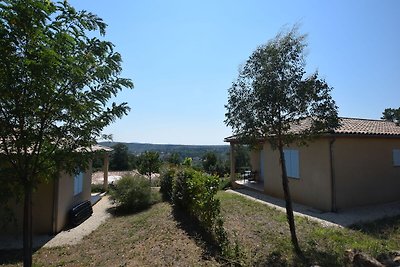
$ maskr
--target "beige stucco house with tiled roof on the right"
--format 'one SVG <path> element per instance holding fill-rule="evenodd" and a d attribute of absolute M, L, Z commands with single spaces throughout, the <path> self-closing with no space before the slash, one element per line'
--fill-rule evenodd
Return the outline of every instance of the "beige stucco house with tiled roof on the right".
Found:
<path fill-rule="evenodd" d="M 285 148 L 293 201 L 321 211 L 399 201 L 400 126 L 355 118 L 341 118 L 340 123 L 308 146 Z M 307 125 L 292 130 L 296 127 Z M 225 141 L 234 151 L 238 140 L 228 137 Z M 283 198 L 278 152 L 268 140 L 260 147 L 251 153 L 255 179 L 266 194 Z M 234 170 L 231 165 L 232 179 Z"/>

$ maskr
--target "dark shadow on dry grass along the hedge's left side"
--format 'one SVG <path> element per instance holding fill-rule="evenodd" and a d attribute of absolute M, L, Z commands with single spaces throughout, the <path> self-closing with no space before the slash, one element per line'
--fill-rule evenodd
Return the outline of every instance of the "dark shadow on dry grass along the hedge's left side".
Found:
<path fill-rule="evenodd" d="M 188 216 L 185 212 L 173 208 L 172 214 L 178 223 L 178 227 L 193 238 L 199 247 L 203 248 L 203 258 L 215 258 L 219 253 L 219 247 L 212 236 L 200 225 L 200 223 Z"/>

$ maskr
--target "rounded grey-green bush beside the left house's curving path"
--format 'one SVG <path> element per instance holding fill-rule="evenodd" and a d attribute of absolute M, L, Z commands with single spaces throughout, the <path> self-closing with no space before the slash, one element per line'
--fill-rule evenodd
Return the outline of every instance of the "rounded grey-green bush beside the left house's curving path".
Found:
<path fill-rule="evenodd" d="M 150 181 L 141 175 L 123 176 L 110 188 L 110 196 L 117 202 L 118 209 L 127 212 L 147 208 L 159 198 L 152 192 Z"/>

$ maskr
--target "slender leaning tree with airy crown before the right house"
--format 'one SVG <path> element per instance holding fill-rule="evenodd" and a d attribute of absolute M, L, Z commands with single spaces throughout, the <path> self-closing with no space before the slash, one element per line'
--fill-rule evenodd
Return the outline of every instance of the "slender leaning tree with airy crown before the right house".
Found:
<path fill-rule="evenodd" d="M 328 84 L 315 72 L 305 76 L 306 36 L 297 27 L 259 46 L 228 91 L 225 123 L 243 142 L 268 140 L 278 150 L 286 214 L 294 250 L 302 255 L 293 217 L 283 148 L 307 143 L 338 125 L 337 107 Z M 292 130 L 307 121 L 309 127 Z M 298 128 L 298 127 L 297 127 Z"/>

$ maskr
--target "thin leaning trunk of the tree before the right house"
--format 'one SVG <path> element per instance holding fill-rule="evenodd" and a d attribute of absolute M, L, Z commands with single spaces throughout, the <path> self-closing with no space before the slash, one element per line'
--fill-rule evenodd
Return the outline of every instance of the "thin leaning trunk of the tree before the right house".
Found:
<path fill-rule="evenodd" d="M 279 149 L 281 169 L 282 169 L 282 186 L 283 186 L 283 192 L 285 195 L 286 217 L 287 217 L 288 223 L 289 223 L 290 237 L 292 240 L 294 251 L 296 252 L 297 255 L 301 256 L 302 252 L 301 252 L 299 242 L 297 240 L 297 235 L 296 235 L 296 226 L 294 223 L 292 198 L 290 196 L 290 191 L 289 191 L 289 180 L 288 180 L 287 172 L 286 172 L 286 161 L 285 161 L 285 155 L 283 153 L 283 145 L 280 144 L 278 149 Z"/>

